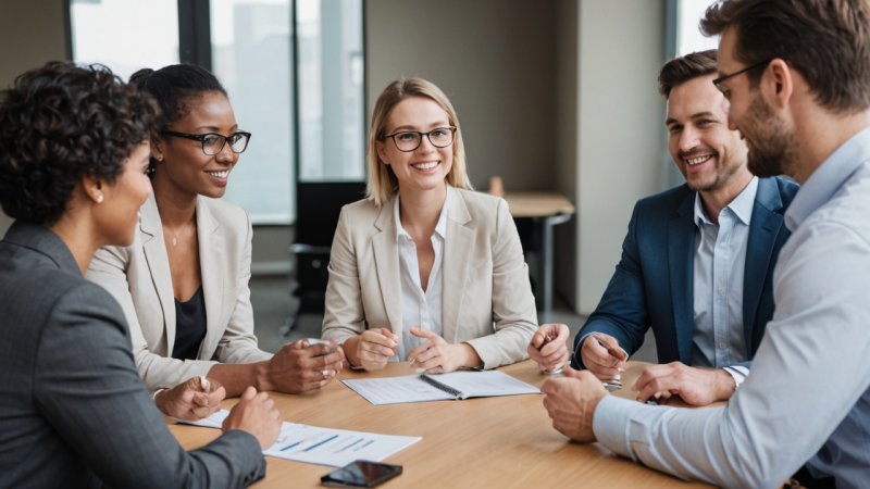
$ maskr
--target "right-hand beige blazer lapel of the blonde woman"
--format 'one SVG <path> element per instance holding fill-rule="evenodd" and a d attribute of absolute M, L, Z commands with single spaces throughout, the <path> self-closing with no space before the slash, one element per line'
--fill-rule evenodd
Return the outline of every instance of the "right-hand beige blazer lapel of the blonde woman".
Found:
<path fill-rule="evenodd" d="M 444 339 L 455 343 L 459 328 L 462 299 L 465 296 L 469 266 L 465 258 L 472 249 L 474 231 L 465 224 L 471 221 L 465 201 L 459 191 L 447 186 L 447 236 L 442 259 L 442 326 Z"/>

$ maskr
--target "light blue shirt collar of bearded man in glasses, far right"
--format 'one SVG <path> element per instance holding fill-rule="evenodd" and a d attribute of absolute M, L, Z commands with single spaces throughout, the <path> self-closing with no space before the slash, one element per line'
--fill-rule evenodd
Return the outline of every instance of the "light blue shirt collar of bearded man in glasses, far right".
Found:
<path fill-rule="evenodd" d="M 870 154 L 870 127 L 865 127 L 837 148 L 800 186 L 792 205 L 785 211 L 785 225 L 794 231 L 813 211 L 834 193 L 858 170 Z"/>

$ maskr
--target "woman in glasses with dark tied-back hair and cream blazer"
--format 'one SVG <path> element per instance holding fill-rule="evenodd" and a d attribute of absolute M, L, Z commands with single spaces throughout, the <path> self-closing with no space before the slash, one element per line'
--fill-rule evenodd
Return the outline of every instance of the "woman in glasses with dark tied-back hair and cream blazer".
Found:
<path fill-rule="evenodd" d="M 130 83 L 162 110 L 151 140 L 153 193 L 135 243 L 97 252 L 88 278 L 122 304 L 146 385 L 160 396 L 201 375 L 231 397 L 247 386 L 291 393 L 324 386 L 341 369 L 340 349 L 297 341 L 272 355 L 257 346 L 251 223 L 219 200 L 251 137 L 239 129 L 226 90 L 187 64 L 141 70 Z"/>

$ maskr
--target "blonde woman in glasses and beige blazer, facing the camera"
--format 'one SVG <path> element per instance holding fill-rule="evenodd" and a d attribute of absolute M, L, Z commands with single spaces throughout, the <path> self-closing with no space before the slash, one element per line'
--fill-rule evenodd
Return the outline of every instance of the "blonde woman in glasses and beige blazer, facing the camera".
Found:
<path fill-rule="evenodd" d="M 499 198 L 471 190 L 450 101 L 420 78 L 375 103 L 368 198 L 341 210 L 323 337 L 369 371 L 520 361 L 537 329 L 520 238 Z"/>

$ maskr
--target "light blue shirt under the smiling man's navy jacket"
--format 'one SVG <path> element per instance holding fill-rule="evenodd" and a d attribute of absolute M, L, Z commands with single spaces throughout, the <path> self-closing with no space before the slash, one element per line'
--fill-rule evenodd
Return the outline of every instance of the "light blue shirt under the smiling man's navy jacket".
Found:
<path fill-rule="evenodd" d="M 724 367 L 749 360 L 743 336 L 743 276 L 758 178 L 719 213 L 719 224 L 695 193 L 692 366 Z"/>

